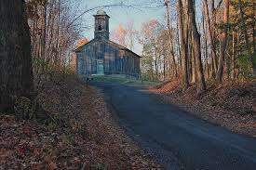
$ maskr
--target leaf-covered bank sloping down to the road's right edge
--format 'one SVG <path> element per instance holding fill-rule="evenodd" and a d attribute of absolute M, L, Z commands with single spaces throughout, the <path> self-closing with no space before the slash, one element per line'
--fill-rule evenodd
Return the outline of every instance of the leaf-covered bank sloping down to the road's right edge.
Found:
<path fill-rule="evenodd" d="M 256 137 L 256 82 L 209 85 L 199 98 L 195 85 L 183 91 L 180 82 L 150 88 L 160 98 L 195 116 L 239 134 Z"/>

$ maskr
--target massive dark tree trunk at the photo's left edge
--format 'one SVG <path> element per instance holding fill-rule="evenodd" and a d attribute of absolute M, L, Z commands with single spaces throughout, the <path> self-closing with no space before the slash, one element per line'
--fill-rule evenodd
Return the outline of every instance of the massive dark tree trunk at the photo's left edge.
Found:
<path fill-rule="evenodd" d="M 0 1 L 0 111 L 33 91 L 31 39 L 23 0 Z"/>

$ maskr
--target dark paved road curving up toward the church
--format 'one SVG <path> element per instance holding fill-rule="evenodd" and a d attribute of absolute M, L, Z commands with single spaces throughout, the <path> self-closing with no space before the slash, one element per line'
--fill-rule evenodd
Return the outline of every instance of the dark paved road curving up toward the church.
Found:
<path fill-rule="evenodd" d="M 256 170 L 256 139 L 236 135 L 157 100 L 142 87 L 100 87 L 119 123 L 168 169 Z M 177 162 L 177 158 L 180 163 Z"/>

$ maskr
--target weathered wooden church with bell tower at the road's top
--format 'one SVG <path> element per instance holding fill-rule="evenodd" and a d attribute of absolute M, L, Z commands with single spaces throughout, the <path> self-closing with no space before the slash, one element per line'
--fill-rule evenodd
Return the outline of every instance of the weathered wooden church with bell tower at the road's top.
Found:
<path fill-rule="evenodd" d="M 94 18 L 94 39 L 74 50 L 77 73 L 86 76 L 124 74 L 138 78 L 141 57 L 127 47 L 110 41 L 110 17 L 105 11 L 99 10 Z"/>

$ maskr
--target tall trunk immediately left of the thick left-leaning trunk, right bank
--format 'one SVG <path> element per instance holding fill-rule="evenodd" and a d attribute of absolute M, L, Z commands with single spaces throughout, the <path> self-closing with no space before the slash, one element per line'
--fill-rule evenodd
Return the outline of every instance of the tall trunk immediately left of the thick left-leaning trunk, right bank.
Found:
<path fill-rule="evenodd" d="M 177 1 L 177 8 L 178 8 L 178 20 L 179 20 L 179 30 L 180 30 L 180 36 L 181 36 L 181 52 L 182 52 L 182 74 L 183 74 L 183 85 L 184 88 L 187 88 L 189 86 L 189 80 L 188 80 L 188 72 L 187 72 L 187 45 L 185 40 L 185 35 L 183 31 L 183 15 L 182 12 L 182 0 Z"/>

